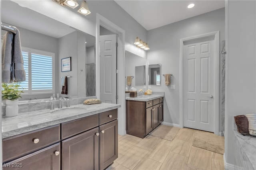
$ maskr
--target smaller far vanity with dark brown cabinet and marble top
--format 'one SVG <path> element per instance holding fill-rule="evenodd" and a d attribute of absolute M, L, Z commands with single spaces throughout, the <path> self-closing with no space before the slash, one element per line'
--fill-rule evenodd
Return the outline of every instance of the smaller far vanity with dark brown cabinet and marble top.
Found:
<path fill-rule="evenodd" d="M 163 94 L 126 98 L 126 133 L 144 138 L 164 120 Z"/>

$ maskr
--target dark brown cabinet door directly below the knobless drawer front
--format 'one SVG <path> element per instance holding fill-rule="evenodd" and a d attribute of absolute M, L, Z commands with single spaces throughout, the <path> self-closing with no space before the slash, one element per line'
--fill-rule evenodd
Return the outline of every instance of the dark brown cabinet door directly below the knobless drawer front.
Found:
<path fill-rule="evenodd" d="M 99 128 L 62 141 L 62 170 L 99 168 Z"/>

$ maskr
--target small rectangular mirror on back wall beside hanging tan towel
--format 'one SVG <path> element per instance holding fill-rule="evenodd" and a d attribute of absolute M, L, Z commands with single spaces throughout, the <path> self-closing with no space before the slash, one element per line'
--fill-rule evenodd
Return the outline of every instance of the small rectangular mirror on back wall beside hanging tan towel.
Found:
<path fill-rule="evenodd" d="M 161 64 L 148 65 L 148 85 L 160 85 Z"/>

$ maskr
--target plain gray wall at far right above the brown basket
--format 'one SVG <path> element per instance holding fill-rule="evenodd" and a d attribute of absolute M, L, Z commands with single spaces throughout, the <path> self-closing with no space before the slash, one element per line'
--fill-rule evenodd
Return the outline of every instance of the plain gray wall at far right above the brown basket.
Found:
<path fill-rule="evenodd" d="M 228 1 L 226 16 L 225 158 L 234 164 L 234 116 L 256 112 L 256 2 Z"/>

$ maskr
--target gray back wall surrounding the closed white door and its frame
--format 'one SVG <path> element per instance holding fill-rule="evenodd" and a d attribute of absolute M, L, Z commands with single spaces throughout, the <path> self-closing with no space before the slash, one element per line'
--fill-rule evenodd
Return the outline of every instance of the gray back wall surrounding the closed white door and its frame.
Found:
<path fill-rule="evenodd" d="M 225 39 L 224 8 L 148 31 L 148 64 L 162 64 L 162 74 L 173 74 L 171 85 L 176 85 L 171 90 L 161 78 L 160 86 L 151 86 L 153 91 L 164 91 L 164 122 L 180 124 L 180 39 L 213 31 L 220 31 L 220 41 Z"/>

